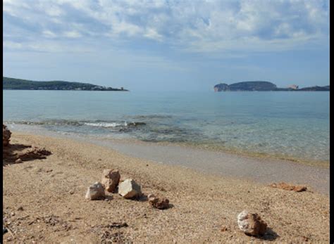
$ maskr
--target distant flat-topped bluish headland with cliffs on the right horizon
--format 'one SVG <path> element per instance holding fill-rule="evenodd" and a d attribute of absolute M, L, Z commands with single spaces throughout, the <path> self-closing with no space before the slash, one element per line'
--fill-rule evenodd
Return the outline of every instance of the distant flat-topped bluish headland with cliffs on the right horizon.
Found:
<path fill-rule="evenodd" d="M 329 91 L 329 86 L 311 86 L 299 89 L 295 84 L 286 88 L 278 88 L 276 84 L 264 81 L 237 82 L 233 84 L 220 83 L 214 86 L 214 91 Z"/>

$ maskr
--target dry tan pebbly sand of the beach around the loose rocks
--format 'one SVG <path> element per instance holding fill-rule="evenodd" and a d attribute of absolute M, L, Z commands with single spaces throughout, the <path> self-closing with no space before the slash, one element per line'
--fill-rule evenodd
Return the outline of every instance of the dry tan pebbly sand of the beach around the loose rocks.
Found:
<path fill-rule="evenodd" d="M 329 241 L 329 198 L 321 193 L 296 193 L 161 165 L 70 139 L 13 133 L 11 143 L 45 147 L 52 155 L 3 168 L 3 211 L 11 230 L 4 234 L 4 243 Z M 123 179 L 135 179 L 145 195 L 166 196 L 173 206 L 156 210 L 144 198 L 125 200 L 118 194 L 111 194 L 109 201 L 85 200 L 87 186 L 100 181 L 106 168 L 118 169 Z M 238 229 L 242 210 L 257 212 L 266 221 L 269 229 L 263 238 Z"/>

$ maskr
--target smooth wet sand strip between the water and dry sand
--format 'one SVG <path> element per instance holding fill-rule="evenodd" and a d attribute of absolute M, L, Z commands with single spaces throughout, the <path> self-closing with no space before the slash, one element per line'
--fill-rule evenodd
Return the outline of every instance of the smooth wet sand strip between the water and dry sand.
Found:
<path fill-rule="evenodd" d="M 37 127 L 38 129 L 39 127 Z M 13 131 L 16 132 L 15 130 Z M 20 134 L 33 136 L 32 131 Z M 291 184 L 304 184 L 314 191 L 329 195 L 330 172 L 323 165 L 304 164 L 272 157 L 254 157 L 230 151 L 209 150 L 179 143 L 151 143 L 135 139 L 106 139 L 95 136 L 57 134 L 45 130 L 39 135 L 74 141 L 87 140 L 118 153 L 142 160 L 150 160 L 163 165 L 178 165 L 189 169 L 234 179 L 246 179 L 259 184 L 285 181 Z M 204 163 L 206 162 L 206 163 Z"/>

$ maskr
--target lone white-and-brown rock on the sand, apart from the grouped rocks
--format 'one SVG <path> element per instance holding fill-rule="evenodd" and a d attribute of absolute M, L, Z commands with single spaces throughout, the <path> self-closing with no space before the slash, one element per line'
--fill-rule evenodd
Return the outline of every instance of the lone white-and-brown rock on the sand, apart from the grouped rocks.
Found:
<path fill-rule="evenodd" d="M 237 225 L 241 231 L 250 236 L 263 236 L 267 229 L 267 224 L 258 214 L 252 214 L 246 210 L 237 215 Z"/>

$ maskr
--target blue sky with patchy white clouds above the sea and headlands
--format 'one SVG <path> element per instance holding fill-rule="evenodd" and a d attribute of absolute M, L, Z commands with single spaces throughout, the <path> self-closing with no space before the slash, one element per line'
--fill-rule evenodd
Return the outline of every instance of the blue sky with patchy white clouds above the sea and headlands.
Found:
<path fill-rule="evenodd" d="M 329 1 L 4 0 L 4 76 L 131 91 L 329 84 Z"/>

